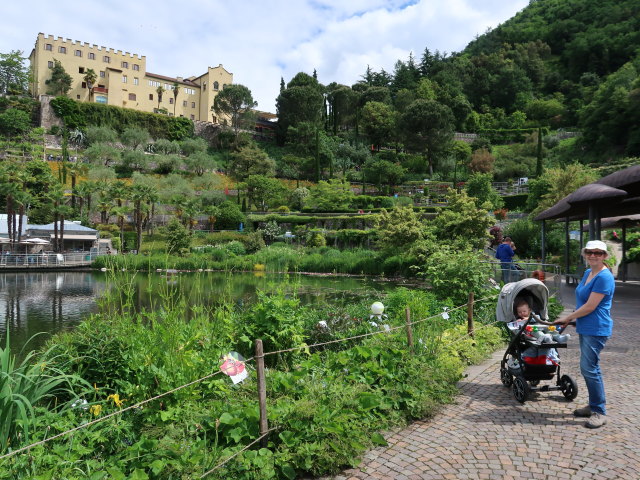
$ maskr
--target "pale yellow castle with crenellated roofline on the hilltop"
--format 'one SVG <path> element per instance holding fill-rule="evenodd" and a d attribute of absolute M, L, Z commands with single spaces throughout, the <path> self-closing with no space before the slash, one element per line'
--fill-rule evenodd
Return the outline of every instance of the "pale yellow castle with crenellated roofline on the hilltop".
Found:
<path fill-rule="evenodd" d="M 51 78 L 54 60 L 59 61 L 73 79 L 67 93 L 69 98 L 212 123 L 221 123 L 211 110 L 213 99 L 225 85 L 233 83 L 233 74 L 222 65 L 208 67 L 204 74 L 196 77 L 167 77 L 148 72 L 144 55 L 39 33 L 29 55 L 30 89 L 35 97 L 47 93 L 45 82 Z M 97 77 L 93 85 L 85 81 L 89 69 Z M 173 91 L 176 83 L 179 85 L 177 96 Z M 159 87 L 164 90 L 161 94 L 158 94 Z"/>

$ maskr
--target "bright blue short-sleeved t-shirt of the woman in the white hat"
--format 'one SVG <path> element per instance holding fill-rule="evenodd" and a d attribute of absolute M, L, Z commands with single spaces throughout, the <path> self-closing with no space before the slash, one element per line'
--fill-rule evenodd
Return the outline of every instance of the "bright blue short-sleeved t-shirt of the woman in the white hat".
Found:
<path fill-rule="evenodd" d="M 585 284 L 589 273 L 591 273 L 591 269 L 584 272 L 580 284 L 576 287 L 576 310 L 587 303 L 591 292 L 602 293 L 604 297 L 593 312 L 576 320 L 576 331 L 582 335 L 610 337 L 613 330 L 611 301 L 616 282 L 611 271 L 604 268 L 589 283 Z"/>

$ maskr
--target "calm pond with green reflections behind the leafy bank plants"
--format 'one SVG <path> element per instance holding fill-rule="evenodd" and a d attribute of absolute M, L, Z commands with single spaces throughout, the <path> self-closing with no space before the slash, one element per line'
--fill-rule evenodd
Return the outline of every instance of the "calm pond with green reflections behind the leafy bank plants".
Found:
<path fill-rule="evenodd" d="M 333 275 L 0 273 L 0 346 L 4 348 L 8 329 L 13 352 L 37 349 L 93 313 L 118 310 L 123 298 L 137 311 L 159 308 L 183 294 L 191 305 L 232 302 L 243 307 L 255 300 L 258 290 L 283 288 L 295 292 L 303 304 L 344 304 L 363 295 L 373 302 L 396 286 L 380 278 Z"/>

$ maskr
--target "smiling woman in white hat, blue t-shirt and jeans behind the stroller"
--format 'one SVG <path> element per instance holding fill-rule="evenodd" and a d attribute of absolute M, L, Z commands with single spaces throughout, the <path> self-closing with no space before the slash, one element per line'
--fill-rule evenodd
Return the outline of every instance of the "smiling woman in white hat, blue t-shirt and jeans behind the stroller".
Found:
<path fill-rule="evenodd" d="M 611 302 L 616 284 L 613 274 L 604 264 L 608 256 L 604 242 L 587 242 L 582 255 L 590 268 L 576 287 L 576 310 L 554 323 L 564 328 L 571 320 L 576 320 L 576 331 L 580 336 L 580 372 L 587 384 L 589 405 L 576 409 L 573 414 L 589 417 L 586 427 L 599 428 L 607 423 L 600 352 L 613 329 Z"/>

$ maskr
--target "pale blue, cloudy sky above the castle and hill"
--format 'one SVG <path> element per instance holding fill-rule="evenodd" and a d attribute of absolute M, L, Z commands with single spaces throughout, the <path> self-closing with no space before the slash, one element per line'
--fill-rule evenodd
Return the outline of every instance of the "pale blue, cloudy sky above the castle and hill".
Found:
<path fill-rule="evenodd" d="M 280 79 L 353 85 L 425 48 L 459 52 L 529 0 L 1 0 L 0 53 L 28 57 L 39 32 L 145 55 L 147 71 L 198 76 L 220 64 L 274 112 Z"/>

